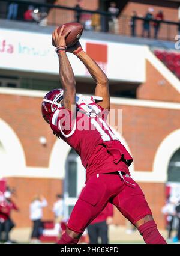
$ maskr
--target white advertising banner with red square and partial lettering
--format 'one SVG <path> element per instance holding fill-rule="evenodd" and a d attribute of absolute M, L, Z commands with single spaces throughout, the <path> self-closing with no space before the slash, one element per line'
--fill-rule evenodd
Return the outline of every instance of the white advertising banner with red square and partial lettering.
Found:
<path fill-rule="evenodd" d="M 145 81 L 145 46 L 85 38 L 82 38 L 80 43 L 109 79 Z M 76 56 L 68 53 L 68 57 L 76 76 L 89 76 L 85 66 Z M 58 74 L 58 66 L 51 35 L 0 29 L 0 69 Z"/>

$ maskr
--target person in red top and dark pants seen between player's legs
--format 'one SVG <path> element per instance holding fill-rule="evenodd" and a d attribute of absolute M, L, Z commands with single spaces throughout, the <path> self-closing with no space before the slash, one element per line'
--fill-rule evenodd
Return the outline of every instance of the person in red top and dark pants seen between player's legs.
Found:
<path fill-rule="evenodd" d="M 108 203 L 104 210 L 88 226 L 88 235 L 90 243 L 98 244 L 100 237 L 101 243 L 109 243 L 108 225 L 113 222 L 113 205 Z"/>

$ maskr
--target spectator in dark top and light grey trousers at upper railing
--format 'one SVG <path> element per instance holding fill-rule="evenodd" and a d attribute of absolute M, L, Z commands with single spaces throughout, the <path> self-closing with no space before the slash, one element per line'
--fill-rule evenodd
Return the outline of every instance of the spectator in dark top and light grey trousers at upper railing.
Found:
<path fill-rule="evenodd" d="M 110 2 L 110 7 L 108 8 L 109 13 L 112 16 L 109 18 L 109 32 L 118 34 L 119 33 L 119 8 L 116 7 L 116 2 Z"/>

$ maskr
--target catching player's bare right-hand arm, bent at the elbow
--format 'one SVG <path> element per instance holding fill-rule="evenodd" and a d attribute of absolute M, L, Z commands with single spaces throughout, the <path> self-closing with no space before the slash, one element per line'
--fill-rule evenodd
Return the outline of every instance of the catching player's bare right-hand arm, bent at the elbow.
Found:
<path fill-rule="evenodd" d="M 98 105 L 102 106 L 105 109 L 110 109 L 110 96 L 109 96 L 109 82 L 106 74 L 101 70 L 97 63 L 91 59 L 91 57 L 82 50 L 79 42 L 71 49 L 67 49 L 68 52 L 74 53 L 80 61 L 88 69 L 92 78 L 96 82 L 95 87 L 95 96 L 103 97 L 103 101 L 99 102 Z"/>

